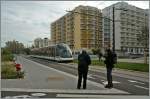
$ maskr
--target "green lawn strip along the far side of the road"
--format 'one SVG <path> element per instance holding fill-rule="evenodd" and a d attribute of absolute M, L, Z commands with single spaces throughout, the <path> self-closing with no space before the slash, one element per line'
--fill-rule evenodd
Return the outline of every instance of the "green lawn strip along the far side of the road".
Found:
<path fill-rule="evenodd" d="M 74 63 L 77 62 L 78 62 L 77 60 L 74 60 Z M 92 60 L 91 65 L 105 66 L 103 61 L 99 62 L 98 60 Z M 117 64 L 115 64 L 115 68 L 149 72 L 149 64 L 144 64 L 144 63 L 118 62 Z"/>

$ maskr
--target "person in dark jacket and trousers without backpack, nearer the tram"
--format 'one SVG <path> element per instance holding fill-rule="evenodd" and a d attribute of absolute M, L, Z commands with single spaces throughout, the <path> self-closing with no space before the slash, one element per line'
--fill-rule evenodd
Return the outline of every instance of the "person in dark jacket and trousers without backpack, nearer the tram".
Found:
<path fill-rule="evenodd" d="M 88 66 L 91 64 L 90 56 L 85 50 L 78 56 L 78 84 L 77 88 L 80 89 L 83 78 L 83 89 L 86 89 L 86 80 L 88 74 Z"/>

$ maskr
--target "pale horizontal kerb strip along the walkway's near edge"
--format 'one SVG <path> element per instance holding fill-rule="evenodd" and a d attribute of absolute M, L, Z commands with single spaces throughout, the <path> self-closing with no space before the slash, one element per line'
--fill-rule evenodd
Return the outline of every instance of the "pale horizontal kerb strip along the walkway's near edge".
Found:
<path fill-rule="evenodd" d="M 1 91 L 15 91 L 15 92 L 39 92 L 39 93 L 95 93 L 95 94 L 126 94 L 129 93 L 118 93 L 113 89 L 103 89 L 103 90 L 78 90 L 78 89 L 28 89 L 28 88 L 1 88 Z"/>

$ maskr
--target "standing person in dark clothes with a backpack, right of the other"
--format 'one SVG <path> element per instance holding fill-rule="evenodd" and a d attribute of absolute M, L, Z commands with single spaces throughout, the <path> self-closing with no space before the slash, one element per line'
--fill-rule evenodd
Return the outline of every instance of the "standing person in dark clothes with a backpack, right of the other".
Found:
<path fill-rule="evenodd" d="M 107 69 L 107 81 L 108 84 L 105 86 L 105 88 L 112 88 L 112 69 L 114 68 L 114 64 L 116 63 L 117 55 L 113 53 L 110 49 L 106 50 L 106 55 L 104 63 L 106 64 Z"/>

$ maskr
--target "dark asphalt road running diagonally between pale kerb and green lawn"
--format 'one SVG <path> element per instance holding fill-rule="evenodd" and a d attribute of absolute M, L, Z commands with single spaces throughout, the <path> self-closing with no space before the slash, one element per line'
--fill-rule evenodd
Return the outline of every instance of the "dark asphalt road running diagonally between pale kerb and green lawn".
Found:
<path fill-rule="evenodd" d="M 46 66 L 49 66 L 51 68 L 55 68 L 60 71 L 64 71 L 67 73 L 70 73 L 72 75 L 77 76 L 77 69 L 73 66 L 68 66 L 65 64 L 60 64 L 56 62 L 51 62 L 49 60 L 43 60 L 43 59 L 35 59 L 30 58 L 33 61 L 36 61 L 38 63 L 44 64 Z M 88 79 L 97 83 L 104 84 L 106 82 L 106 74 L 101 71 L 89 71 Z M 130 79 L 125 77 L 113 76 L 114 80 L 114 88 L 126 91 L 132 95 L 149 95 L 149 83 L 145 81 L 139 81 L 138 79 Z"/>

